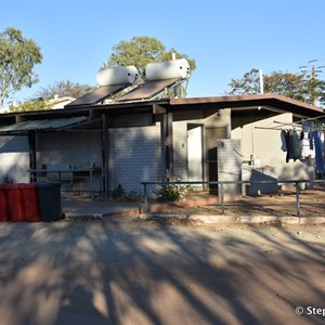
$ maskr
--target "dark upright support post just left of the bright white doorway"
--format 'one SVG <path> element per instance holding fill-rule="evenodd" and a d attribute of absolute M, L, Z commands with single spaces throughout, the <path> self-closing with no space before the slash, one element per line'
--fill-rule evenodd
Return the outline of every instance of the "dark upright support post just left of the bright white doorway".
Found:
<path fill-rule="evenodd" d="M 172 113 L 164 114 L 162 120 L 165 139 L 165 171 L 166 180 L 173 180 L 173 136 L 172 136 Z"/>

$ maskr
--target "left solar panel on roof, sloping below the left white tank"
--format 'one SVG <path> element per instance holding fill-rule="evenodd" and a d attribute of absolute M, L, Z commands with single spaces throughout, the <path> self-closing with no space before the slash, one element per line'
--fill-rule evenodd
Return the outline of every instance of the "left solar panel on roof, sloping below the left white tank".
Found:
<path fill-rule="evenodd" d="M 130 84 L 110 84 L 110 86 L 102 86 L 96 88 L 95 90 L 87 93 L 86 95 L 77 99 L 76 101 L 65 105 L 65 107 L 72 107 L 72 106 L 84 106 L 84 105 L 94 105 L 100 102 L 103 102 L 105 99 L 107 99 L 109 95 L 113 95 Z"/>

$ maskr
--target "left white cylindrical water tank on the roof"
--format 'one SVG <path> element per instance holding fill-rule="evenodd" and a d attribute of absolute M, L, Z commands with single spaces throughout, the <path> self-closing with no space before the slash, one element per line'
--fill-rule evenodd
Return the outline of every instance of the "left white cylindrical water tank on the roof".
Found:
<path fill-rule="evenodd" d="M 113 68 L 105 68 L 98 72 L 99 86 L 112 86 L 122 83 L 133 83 L 139 76 L 135 66 L 119 66 Z"/>

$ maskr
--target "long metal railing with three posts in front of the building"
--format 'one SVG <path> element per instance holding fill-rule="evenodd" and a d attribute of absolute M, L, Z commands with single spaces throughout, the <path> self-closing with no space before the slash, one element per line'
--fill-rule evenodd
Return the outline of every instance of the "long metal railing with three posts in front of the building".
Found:
<path fill-rule="evenodd" d="M 147 185 L 220 185 L 220 205 L 221 205 L 221 213 L 224 214 L 225 210 L 225 202 L 224 202 L 224 185 L 225 184 L 295 184 L 296 186 L 296 211 L 297 216 L 300 216 L 300 184 L 302 183 L 325 183 L 325 180 L 277 180 L 277 181 L 213 181 L 213 182 L 141 182 L 144 186 L 144 211 L 148 213 L 148 193 Z"/>

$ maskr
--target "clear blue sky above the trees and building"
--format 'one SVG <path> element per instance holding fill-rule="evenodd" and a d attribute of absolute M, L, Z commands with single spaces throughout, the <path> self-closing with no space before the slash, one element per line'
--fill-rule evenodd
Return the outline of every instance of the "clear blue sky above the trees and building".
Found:
<path fill-rule="evenodd" d="M 60 80 L 95 86 L 113 46 L 133 36 L 195 58 L 187 96 L 214 96 L 251 68 L 298 73 L 311 60 L 325 66 L 324 13 L 323 0 L 0 0 L 0 31 L 21 29 L 43 55 L 39 83 L 12 100 Z"/>

